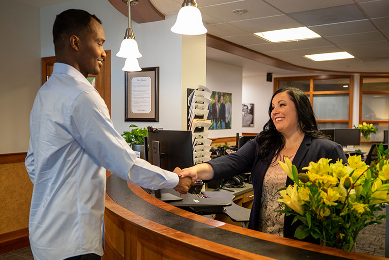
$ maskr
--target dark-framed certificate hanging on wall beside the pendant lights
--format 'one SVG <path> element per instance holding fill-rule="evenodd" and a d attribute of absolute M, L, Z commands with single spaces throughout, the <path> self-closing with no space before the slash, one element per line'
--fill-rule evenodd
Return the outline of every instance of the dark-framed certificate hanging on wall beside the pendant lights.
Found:
<path fill-rule="evenodd" d="M 150 78 L 150 79 L 148 79 Z M 145 95 L 141 95 L 141 99 L 147 102 L 141 102 L 140 109 L 137 104 L 132 103 L 132 98 L 137 93 L 133 93 L 133 89 L 137 89 L 137 81 L 147 79 L 150 83 L 150 92 L 146 91 Z M 144 85 L 141 87 L 145 87 Z M 147 87 L 147 86 L 146 86 Z M 150 95 L 150 97 L 148 97 Z M 150 100 L 150 105 L 148 105 Z M 145 110 L 145 112 L 140 112 Z M 141 71 L 124 73 L 124 121 L 142 121 L 142 122 L 158 122 L 159 121 L 159 67 L 142 68 Z"/>

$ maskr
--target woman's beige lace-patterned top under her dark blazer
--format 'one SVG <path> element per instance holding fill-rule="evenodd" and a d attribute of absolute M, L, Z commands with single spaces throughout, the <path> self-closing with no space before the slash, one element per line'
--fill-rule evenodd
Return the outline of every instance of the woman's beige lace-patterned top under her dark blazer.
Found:
<path fill-rule="evenodd" d="M 296 153 L 287 157 L 293 161 L 295 155 Z M 278 163 L 281 158 L 283 161 L 283 157 L 284 155 L 280 153 L 277 160 L 269 166 L 265 173 L 259 220 L 259 231 L 279 237 L 283 237 L 284 214 L 274 212 L 274 210 L 283 210 L 283 206 L 277 201 L 280 199 L 280 193 L 274 194 L 286 184 L 287 175 Z"/>

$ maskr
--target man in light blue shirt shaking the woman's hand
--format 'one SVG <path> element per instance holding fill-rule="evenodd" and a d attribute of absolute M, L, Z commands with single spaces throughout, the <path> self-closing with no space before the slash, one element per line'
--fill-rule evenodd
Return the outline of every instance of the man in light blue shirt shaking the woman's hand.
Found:
<path fill-rule="evenodd" d="M 183 193 L 193 180 L 137 158 L 113 127 L 86 79 L 106 57 L 101 21 L 83 10 L 64 11 L 53 38 L 56 63 L 35 97 L 25 160 L 34 184 L 31 249 L 35 260 L 100 259 L 106 170 L 144 188 Z"/>

